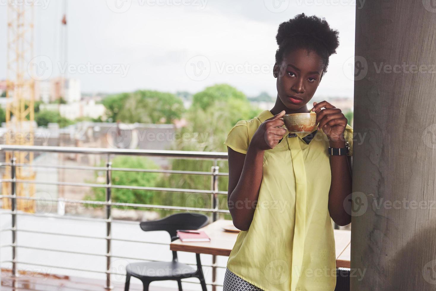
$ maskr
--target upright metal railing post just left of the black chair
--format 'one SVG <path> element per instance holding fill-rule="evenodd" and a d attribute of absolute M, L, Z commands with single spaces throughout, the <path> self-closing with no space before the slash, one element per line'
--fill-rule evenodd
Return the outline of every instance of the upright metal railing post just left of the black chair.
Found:
<path fill-rule="evenodd" d="M 106 162 L 106 287 L 105 289 L 112 289 L 110 280 L 110 264 L 111 264 L 111 226 L 112 226 L 112 198 L 111 198 L 111 187 L 112 187 L 112 162 Z"/>

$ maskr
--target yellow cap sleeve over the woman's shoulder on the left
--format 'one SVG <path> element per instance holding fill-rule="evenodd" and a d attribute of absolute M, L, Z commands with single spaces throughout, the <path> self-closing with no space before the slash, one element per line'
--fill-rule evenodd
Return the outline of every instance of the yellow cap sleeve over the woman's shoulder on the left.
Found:
<path fill-rule="evenodd" d="M 251 138 L 260 123 L 257 117 L 250 120 L 239 120 L 228 132 L 224 144 L 234 151 L 246 154 Z"/>

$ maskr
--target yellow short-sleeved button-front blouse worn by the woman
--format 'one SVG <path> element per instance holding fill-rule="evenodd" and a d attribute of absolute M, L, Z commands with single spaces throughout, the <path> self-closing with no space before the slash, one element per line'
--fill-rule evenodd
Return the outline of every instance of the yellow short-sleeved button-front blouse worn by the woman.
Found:
<path fill-rule="evenodd" d="M 240 120 L 225 145 L 242 154 L 260 123 L 272 117 L 265 110 Z M 253 220 L 241 231 L 227 267 L 266 291 L 329 291 L 336 285 L 333 226 L 328 211 L 329 143 L 321 130 L 286 136 L 265 151 L 263 177 Z M 353 129 L 345 139 L 352 155 Z"/>

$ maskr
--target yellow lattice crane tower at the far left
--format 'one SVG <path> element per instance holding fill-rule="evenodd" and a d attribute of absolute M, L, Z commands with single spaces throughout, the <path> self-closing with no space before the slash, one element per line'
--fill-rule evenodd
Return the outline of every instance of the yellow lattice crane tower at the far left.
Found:
<path fill-rule="evenodd" d="M 30 146 L 34 144 L 34 78 L 31 70 L 33 62 L 34 1 L 8 0 L 7 4 L 7 79 L 6 79 L 6 144 Z M 31 166 L 33 152 L 6 152 L 6 162 L 15 157 L 17 180 L 34 181 L 35 173 Z M 11 167 L 7 166 L 3 178 L 11 178 Z M 10 195 L 10 182 L 2 183 L 2 192 Z M 17 196 L 31 197 L 35 193 L 34 183 L 16 185 Z M 35 201 L 17 199 L 17 210 L 34 212 Z M 3 208 L 10 209 L 10 199 L 3 198 Z"/>

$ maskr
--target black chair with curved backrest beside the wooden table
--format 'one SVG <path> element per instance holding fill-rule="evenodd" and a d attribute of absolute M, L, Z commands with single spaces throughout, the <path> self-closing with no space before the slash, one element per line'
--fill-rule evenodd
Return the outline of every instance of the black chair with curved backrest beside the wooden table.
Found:
<path fill-rule="evenodd" d="M 171 241 L 177 240 L 177 229 L 199 229 L 209 224 L 208 216 L 198 213 L 177 213 L 163 219 L 144 221 L 140 223 L 143 231 L 165 230 L 170 234 Z M 200 279 L 201 289 L 207 291 L 204 274 L 201 268 L 200 254 L 197 255 L 197 269 L 190 265 L 179 263 L 177 252 L 173 251 L 173 260 L 170 262 L 141 262 L 126 266 L 126 285 L 124 291 L 129 290 L 130 277 L 142 281 L 144 291 L 148 291 L 150 282 L 163 280 L 177 280 L 179 291 L 182 291 L 183 278 L 197 277 Z"/>

